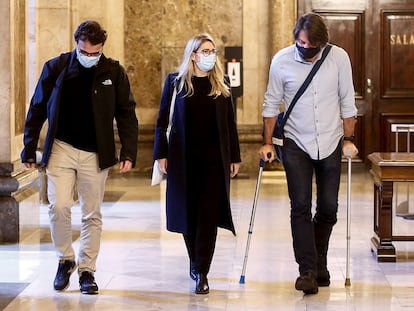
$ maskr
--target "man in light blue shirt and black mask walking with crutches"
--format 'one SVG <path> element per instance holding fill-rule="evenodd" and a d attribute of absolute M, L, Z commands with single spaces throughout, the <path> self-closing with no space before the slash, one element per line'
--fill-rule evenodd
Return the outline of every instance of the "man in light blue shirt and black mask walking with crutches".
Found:
<path fill-rule="evenodd" d="M 329 41 L 327 27 L 315 13 L 299 18 L 293 30 L 295 44 L 272 60 L 263 104 L 264 135 L 260 156 L 275 159 L 272 134 L 282 102 L 285 110 L 321 58 Z M 342 153 L 358 153 L 354 141 L 355 116 L 352 68 L 348 54 L 332 46 L 326 59 L 299 98 L 284 127 L 283 166 L 291 201 L 293 249 L 300 276 L 295 288 L 316 294 L 329 286 L 327 252 L 337 221 Z M 317 199 L 312 217 L 312 178 Z"/>

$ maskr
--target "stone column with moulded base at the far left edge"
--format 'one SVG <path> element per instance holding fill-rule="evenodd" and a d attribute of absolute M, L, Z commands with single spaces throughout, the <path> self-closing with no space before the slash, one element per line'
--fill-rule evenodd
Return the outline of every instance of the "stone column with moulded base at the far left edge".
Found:
<path fill-rule="evenodd" d="M 39 225 L 38 172 L 19 160 L 27 101 L 26 5 L 0 2 L 0 243 L 33 236 Z"/>

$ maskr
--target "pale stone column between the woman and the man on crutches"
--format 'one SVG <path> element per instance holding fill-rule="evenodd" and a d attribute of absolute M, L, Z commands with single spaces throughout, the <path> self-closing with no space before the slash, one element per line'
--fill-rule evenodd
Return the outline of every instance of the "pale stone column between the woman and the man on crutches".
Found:
<path fill-rule="evenodd" d="M 243 1 L 243 103 L 238 105 L 243 170 L 254 176 L 262 142 L 262 104 L 273 55 L 292 43 L 295 1 Z M 276 163 L 276 162 L 275 162 Z M 276 165 L 276 164 L 275 164 Z"/>

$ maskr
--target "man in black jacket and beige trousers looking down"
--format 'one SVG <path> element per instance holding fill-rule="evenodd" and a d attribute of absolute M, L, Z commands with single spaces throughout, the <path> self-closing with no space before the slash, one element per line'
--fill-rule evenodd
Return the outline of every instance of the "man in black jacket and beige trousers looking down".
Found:
<path fill-rule="evenodd" d="M 138 120 L 124 68 L 103 54 L 107 33 L 95 21 L 81 23 L 76 49 L 45 63 L 30 102 L 22 162 L 34 168 L 43 123 L 48 121 L 41 166 L 46 167 L 50 229 L 59 258 L 55 290 L 69 286 L 78 266 L 84 294 L 97 294 L 94 272 L 99 252 L 101 203 L 108 170 L 135 166 Z M 114 119 L 121 150 L 115 148 Z M 82 224 L 78 262 L 72 247 L 71 207 L 77 184 Z"/>

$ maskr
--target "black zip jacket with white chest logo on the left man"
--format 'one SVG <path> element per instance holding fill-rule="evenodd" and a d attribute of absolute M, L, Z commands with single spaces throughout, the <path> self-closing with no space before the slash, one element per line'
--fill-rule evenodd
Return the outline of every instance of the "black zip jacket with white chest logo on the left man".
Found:
<path fill-rule="evenodd" d="M 24 129 L 23 163 L 35 162 L 39 135 L 43 123 L 48 121 L 41 165 L 46 166 L 57 130 L 60 96 L 65 79 L 79 72 L 76 50 L 63 53 L 47 61 L 30 101 Z M 100 169 L 118 162 L 114 137 L 114 119 L 121 142 L 119 160 L 131 160 L 135 166 L 137 157 L 138 120 L 135 115 L 135 99 L 124 68 L 102 55 L 97 65 L 92 87 L 92 107 L 96 127 L 96 140 Z M 76 122 L 76 120 L 73 120 Z"/>

